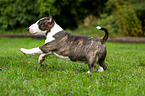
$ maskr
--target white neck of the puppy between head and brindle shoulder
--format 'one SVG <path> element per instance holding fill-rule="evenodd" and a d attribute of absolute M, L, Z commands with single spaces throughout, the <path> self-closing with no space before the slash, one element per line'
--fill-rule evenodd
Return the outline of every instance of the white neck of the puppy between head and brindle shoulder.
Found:
<path fill-rule="evenodd" d="M 56 24 L 56 22 L 54 22 L 54 26 L 46 36 L 45 44 L 55 40 L 53 36 L 62 30 L 63 29 L 58 24 Z"/>

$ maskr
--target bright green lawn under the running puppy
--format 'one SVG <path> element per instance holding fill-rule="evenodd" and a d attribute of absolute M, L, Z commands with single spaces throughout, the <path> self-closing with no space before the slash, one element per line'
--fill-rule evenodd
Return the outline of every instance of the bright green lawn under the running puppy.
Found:
<path fill-rule="evenodd" d="M 44 40 L 0 38 L 0 96 L 144 96 L 145 44 L 106 43 L 108 69 L 87 75 L 88 66 L 53 55 L 38 64 L 39 55 L 20 48 Z"/>

